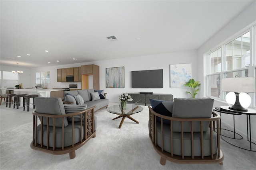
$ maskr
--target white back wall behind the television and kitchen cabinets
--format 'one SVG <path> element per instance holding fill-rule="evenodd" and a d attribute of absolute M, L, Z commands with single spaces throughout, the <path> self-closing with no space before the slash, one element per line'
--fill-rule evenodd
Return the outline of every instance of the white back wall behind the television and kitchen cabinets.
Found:
<path fill-rule="evenodd" d="M 189 97 L 185 92 L 186 88 L 170 88 L 170 64 L 192 63 L 192 76 L 197 79 L 197 52 L 196 51 L 183 51 L 176 53 L 147 55 L 139 57 L 130 57 L 124 59 L 95 61 L 90 63 L 77 63 L 51 67 L 32 68 L 30 84 L 35 86 L 36 74 L 35 72 L 50 71 L 50 84 L 48 88 L 64 88 L 68 87 L 73 82 L 57 82 L 57 68 L 68 68 L 81 66 L 86 64 L 96 64 L 100 66 L 100 90 L 104 89 L 107 93 L 107 98 L 110 102 L 118 102 L 118 96 L 125 92 L 153 92 L 173 94 L 174 98 L 187 98 Z M 106 68 L 124 66 L 124 88 L 106 88 Z M 154 70 L 163 69 L 164 88 L 131 88 L 131 71 L 136 70 Z M 153 81 L 153 80 L 152 80 Z M 81 88 L 81 82 L 74 82 Z"/>

